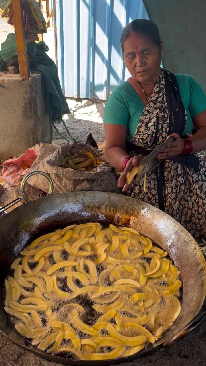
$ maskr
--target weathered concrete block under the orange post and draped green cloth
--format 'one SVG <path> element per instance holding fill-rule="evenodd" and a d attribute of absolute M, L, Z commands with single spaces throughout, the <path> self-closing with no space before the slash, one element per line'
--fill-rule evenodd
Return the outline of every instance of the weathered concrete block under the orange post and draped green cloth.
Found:
<path fill-rule="evenodd" d="M 38 142 L 50 142 L 40 75 L 32 75 L 27 82 L 19 75 L 0 72 L 0 104 L 0 158 L 18 156 Z"/>

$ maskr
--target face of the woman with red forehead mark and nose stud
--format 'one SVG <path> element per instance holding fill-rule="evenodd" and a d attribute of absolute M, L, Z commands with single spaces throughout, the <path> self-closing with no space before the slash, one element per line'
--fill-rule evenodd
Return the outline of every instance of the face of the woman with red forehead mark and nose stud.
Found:
<path fill-rule="evenodd" d="M 131 33 L 124 42 L 124 60 L 130 74 L 141 83 L 157 81 L 161 64 L 161 49 L 151 38 L 141 33 Z"/>

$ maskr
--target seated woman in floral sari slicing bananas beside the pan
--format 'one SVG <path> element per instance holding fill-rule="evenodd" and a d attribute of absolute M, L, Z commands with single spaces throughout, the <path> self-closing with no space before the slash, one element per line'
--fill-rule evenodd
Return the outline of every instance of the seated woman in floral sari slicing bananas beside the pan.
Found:
<path fill-rule="evenodd" d="M 206 163 L 195 154 L 206 149 L 206 96 L 191 76 L 160 67 L 162 46 L 150 20 L 133 20 L 122 31 L 131 77 L 105 106 L 106 155 L 126 195 L 164 210 L 192 235 L 206 237 Z M 142 180 L 126 184 L 126 174 L 171 134 L 176 140 L 159 153 L 146 192 Z"/>

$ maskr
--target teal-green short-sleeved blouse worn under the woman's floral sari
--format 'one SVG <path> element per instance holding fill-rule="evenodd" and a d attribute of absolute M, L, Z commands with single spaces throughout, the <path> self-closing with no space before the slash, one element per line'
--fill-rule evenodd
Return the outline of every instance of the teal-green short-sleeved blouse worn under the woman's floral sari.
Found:
<path fill-rule="evenodd" d="M 206 95 L 190 75 L 175 74 L 175 76 L 187 112 L 187 125 L 183 133 L 187 134 L 192 131 L 192 119 L 206 109 Z M 128 126 L 128 133 L 134 138 L 143 109 L 143 101 L 133 86 L 125 81 L 117 86 L 108 98 L 104 108 L 104 123 Z"/>

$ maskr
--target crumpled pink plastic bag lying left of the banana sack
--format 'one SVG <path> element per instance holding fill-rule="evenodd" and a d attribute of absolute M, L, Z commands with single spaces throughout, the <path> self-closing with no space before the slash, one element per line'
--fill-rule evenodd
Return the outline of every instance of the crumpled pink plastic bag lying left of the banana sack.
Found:
<path fill-rule="evenodd" d="M 4 161 L 2 178 L 11 188 L 16 188 L 21 182 L 22 176 L 28 173 L 29 168 L 39 155 L 40 153 L 36 150 L 27 149 L 26 152 L 18 158 Z"/>

